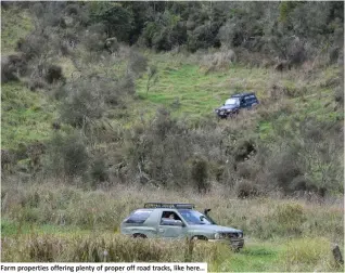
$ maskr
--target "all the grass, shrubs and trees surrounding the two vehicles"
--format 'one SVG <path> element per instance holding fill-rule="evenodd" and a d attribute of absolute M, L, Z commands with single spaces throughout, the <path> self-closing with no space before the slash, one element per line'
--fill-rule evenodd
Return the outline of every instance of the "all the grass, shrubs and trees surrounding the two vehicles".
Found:
<path fill-rule="evenodd" d="M 344 246 L 343 2 L 1 8 L 3 260 L 342 270 L 328 244 Z M 258 107 L 217 120 L 243 91 Z M 157 198 L 212 207 L 248 244 L 191 258 L 110 238 Z"/>

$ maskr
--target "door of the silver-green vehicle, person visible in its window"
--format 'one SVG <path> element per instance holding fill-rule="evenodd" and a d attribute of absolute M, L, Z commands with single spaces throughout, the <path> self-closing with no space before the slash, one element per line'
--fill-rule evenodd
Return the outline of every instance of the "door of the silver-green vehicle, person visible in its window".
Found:
<path fill-rule="evenodd" d="M 165 238 L 177 238 L 183 236 L 186 223 L 174 211 L 165 210 L 162 212 L 158 223 L 158 236 Z"/>

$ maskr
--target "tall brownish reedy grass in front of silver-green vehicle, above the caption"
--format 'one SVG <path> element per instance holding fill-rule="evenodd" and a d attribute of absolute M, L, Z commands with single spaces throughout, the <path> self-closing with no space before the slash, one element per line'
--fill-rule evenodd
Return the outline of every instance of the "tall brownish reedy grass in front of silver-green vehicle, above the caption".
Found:
<path fill-rule="evenodd" d="M 230 251 L 217 244 L 119 234 L 29 235 L 2 238 L 1 258 L 11 262 L 212 262 Z"/>

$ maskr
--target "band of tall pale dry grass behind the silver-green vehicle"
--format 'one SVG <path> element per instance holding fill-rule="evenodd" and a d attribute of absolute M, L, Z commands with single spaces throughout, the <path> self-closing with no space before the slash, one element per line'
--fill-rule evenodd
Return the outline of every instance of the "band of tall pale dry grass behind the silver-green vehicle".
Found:
<path fill-rule="evenodd" d="M 146 202 L 194 203 L 201 211 L 212 208 L 220 225 L 244 231 L 248 237 L 274 239 L 305 235 L 327 236 L 343 244 L 342 199 L 322 204 L 281 196 L 239 199 L 226 187 L 206 195 L 192 190 L 173 192 L 138 186 L 84 191 L 71 185 L 3 184 L 2 218 L 14 223 L 75 226 L 89 231 L 116 232 L 120 222 Z"/>

